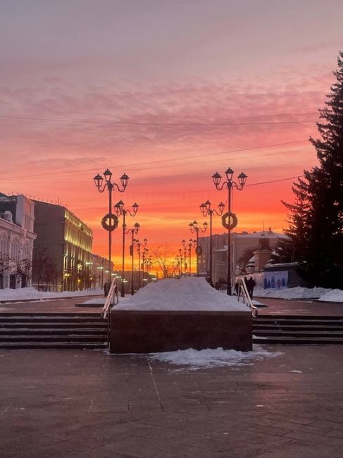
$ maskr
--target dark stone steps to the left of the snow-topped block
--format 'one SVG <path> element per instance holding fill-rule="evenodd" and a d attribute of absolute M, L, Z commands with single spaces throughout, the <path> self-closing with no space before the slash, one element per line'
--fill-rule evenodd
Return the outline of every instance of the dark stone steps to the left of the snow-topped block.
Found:
<path fill-rule="evenodd" d="M 100 313 L 0 314 L 0 349 L 98 349 L 107 347 Z"/>

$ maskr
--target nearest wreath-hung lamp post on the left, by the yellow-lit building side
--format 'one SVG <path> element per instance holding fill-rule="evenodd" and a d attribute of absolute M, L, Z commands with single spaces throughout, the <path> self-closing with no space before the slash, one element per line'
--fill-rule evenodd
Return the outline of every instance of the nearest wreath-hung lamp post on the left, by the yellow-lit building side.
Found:
<path fill-rule="evenodd" d="M 111 182 L 111 177 L 112 177 L 112 172 L 106 169 L 104 171 L 104 178 L 105 178 L 105 183 L 104 187 L 102 187 L 102 183 L 104 181 L 104 178 L 99 175 L 94 176 L 94 183 L 98 189 L 99 192 L 104 192 L 104 190 L 107 187 L 108 190 L 108 213 L 102 218 L 101 220 L 101 225 L 103 226 L 104 229 L 108 230 L 108 281 L 111 282 L 111 273 L 112 273 L 112 266 L 111 266 L 111 253 L 112 253 L 112 231 L 115 230 L 118 227 L 118 218 L 116 215 L 112 213 L 112 192 L 113 188 L 116 186 L 119 192 L 124 192 L 127 183 L 129 182 L 129 177 L 124 173 L 120 177 L 120 182 L 122 185 L 122 189 L 117 185 L 115 182 Z M 106 221 L 109 221 L 108 223 Z M 112 223 L 113 221 L 113 223 Z"/>

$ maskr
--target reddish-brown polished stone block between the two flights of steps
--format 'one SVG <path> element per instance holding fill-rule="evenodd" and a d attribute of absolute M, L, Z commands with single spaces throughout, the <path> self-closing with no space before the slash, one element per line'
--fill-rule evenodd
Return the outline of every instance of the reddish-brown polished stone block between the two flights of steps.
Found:
<path fill-rule="evenodd" d="M 252 349 L 251 311 L 111 311 L 111 353 Z"/>

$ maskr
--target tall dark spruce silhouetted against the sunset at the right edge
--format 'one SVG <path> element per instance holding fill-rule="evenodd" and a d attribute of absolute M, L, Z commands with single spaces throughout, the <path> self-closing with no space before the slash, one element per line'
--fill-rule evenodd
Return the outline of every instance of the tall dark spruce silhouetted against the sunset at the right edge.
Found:
<path fill-rule="evenodd" d="M 297 253 L 299 273 L 312 286 L 343 285 L 343 53 L 339 52 L 336 82 L 319 109 L 320 139 L 310 138 L 319 165 L 304 171 L 304 180 L 294 183 L 290 211 L 291 249 Z M 304 206 L 299 199 L 303 192 Z M 297 251 L 299 249 L 299 251 Z M 279 250 L 280 251 L 280 250 Z"/>

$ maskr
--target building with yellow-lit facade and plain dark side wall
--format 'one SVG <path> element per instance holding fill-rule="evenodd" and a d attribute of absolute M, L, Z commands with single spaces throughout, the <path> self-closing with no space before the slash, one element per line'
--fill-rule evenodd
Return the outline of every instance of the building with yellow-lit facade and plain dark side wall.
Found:
<path fill-rule="evenodd" d="M 38 289 L 83 290 L 92 285 L 92 229 L 64 206 L 35 201 L 32 283 Z"/>

